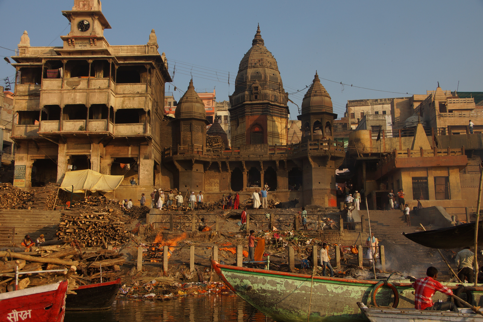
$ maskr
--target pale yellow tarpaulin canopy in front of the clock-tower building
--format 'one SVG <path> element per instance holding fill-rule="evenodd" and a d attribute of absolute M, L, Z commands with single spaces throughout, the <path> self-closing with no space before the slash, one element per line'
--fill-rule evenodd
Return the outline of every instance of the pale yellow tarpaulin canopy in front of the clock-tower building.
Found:
<path fill-rule="evenodd" d="M 90 169 L 69 171 L 65 173 L 60 189 L 72 191 L 72 186 L 74 186 L 75 193 L 81 193 L 85 190 L 110 192 L 114 191 L 123 180 L 124 176 L 100 174 Z"/>

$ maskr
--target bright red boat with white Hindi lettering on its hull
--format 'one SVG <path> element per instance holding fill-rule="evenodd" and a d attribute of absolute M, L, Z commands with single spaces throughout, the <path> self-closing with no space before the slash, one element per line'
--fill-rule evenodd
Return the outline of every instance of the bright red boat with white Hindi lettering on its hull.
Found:
<path fill-rule="evenodd" d="M 0 321 L 63 322 L 67 281 L 0 294 Z"/>

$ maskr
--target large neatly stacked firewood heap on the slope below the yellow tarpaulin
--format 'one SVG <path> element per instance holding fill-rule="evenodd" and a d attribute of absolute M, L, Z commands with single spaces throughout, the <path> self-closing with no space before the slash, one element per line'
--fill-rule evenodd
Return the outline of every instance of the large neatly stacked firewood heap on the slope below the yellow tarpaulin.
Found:
<path fill-rule="evenodd" d="M 73 210 L 62 213 L 58 238 L 77 238 L 81 246 L 119 245 L 131 240 L 131 233 L 125 227 L 131 218 L 121 210 L 107 209 L 82 211 Z"/>

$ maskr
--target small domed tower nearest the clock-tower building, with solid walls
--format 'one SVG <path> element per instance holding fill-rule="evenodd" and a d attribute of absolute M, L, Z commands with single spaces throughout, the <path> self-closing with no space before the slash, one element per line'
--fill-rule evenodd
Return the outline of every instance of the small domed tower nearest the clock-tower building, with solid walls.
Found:
<path fill-rule="evenodd" d="M 201 145 L 206 143 L 206 126 L 210 124 L 206 119 L 205 105 L 195 91 L 193 80 L 180 98 L 174 111 L 176 130 L 179 133 L 179 144 L 182 146 Z"/>

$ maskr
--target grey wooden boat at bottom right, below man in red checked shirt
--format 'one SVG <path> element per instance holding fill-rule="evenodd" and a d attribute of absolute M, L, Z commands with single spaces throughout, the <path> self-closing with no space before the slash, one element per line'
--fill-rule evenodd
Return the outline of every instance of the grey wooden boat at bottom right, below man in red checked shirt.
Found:
<path fill-rule="evenodd" d="M 483 316 L 476 314 L 470 308 L 460 308 L 459 312 L 450 312 L 415 308 L 368 308 L 361 302 L 357 302 L 357 305 L 370 322 L 483 322 Z"/>

